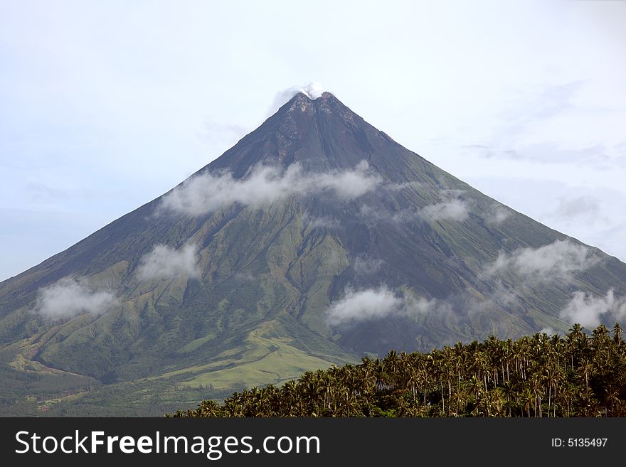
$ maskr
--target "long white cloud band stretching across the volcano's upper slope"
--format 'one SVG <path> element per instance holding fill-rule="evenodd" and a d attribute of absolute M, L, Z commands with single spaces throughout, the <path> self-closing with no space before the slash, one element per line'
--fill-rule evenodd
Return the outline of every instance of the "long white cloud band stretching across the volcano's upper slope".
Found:
<path fill-rule="evenodd" d="M 272 166 L 257 167 L 248 178 L 235 179 L 231 173 L 193 176 L 163 197 L 161 210 L 187 215 L 202 215 L 233 203 L 270 204 L 295 194 L 332 192 L 344 199 L 354 199 L 371 191 L 381 178 L 371 173 L 367 161 L 353 170 L 327 173 L 303 173 L 299 163 L 285 171 Z"/>

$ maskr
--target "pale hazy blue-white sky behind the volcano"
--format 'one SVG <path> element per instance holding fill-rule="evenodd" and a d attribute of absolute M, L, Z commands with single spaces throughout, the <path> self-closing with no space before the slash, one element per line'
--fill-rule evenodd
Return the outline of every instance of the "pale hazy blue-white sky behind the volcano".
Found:
<path fill-rule="evenodd" d="M 0 280 L 324 89 L 626 260 L 626 1 L 0 0 Z"/>

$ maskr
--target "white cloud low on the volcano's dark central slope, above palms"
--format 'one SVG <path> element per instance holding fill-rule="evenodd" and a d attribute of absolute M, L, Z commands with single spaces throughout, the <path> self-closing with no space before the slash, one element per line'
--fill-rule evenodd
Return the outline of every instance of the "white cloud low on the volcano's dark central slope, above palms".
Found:
<path fill-rule="evenodd" d="M 346 326 L 390 316 L 418 316 L 450 311 L 450 305 L 445 302 L 415 298 L 381 285 L 376 289 L 358 291 L 347 288 L 343 298 L 330 304 L 326 319 L 330 326 Z"/>

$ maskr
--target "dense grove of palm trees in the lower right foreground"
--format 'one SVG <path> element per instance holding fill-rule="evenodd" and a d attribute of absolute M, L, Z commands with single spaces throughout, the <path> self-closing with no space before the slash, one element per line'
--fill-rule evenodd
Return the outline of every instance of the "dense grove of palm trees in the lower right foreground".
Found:
<path fill-rule="evenodd" d="M 625 417 L 622 328 L 364 358 L 205 400 L 174 417 Z"/>

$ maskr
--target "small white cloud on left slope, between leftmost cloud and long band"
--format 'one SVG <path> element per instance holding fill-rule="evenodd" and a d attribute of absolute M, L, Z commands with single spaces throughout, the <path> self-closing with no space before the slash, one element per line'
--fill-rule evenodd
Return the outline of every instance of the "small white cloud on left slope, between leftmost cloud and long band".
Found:
<path fill-rule="evenodd" d="M 137 269 L 142 280 L 174 279 L 175 277 L 197 277 L 196 245 L 185 245 L 179 250 L 167 245 L 156 245 L 146 254 Z"/>

